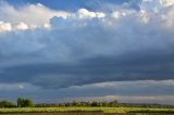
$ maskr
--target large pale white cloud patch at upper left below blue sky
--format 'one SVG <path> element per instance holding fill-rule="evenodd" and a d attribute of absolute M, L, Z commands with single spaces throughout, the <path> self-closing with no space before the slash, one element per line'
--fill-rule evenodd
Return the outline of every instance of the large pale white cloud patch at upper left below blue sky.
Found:
<path fill-rule="evenodd" d="M 23 22 L 28 26 L 42 27 L 44 24 L 49 24 L 50 18 L 53 16 L 66 18 L 71 14 L 65 11 L 51 10 L 40 3 L 16 8 L 2 1 L 0 2 L 0 15 L 1 21 L 10 22 L 12 25 Z M 24 24 L 22 26 L 24 27 Z"/>

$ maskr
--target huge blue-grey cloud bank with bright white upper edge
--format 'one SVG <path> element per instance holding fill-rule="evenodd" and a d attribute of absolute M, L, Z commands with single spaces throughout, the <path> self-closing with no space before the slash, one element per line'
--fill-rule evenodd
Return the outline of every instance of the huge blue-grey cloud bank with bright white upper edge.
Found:
<path fill-rule="evenodd" d="M 139 11 L 112 12 L 2 2 L 0 82 L 59 89 L 173 79 L 174 5 L 146 2 Z"/>

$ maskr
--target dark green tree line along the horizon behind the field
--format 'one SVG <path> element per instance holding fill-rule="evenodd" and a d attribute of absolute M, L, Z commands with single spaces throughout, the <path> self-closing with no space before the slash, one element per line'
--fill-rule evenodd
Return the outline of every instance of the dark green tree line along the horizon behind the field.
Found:
<path fill-rule="evenodd" d="M 0 107 L 60 107 L 60 106 L 103 106 L 103 107 L 158 107 L 158 108 L 174 108 L 174 105 L 161 104 L 133 104 L 133 103 L 119 103 L 117 100 L 107 101 L 73 101 L 71 103 L 53 103 L 53 104 L 34 104 L 32 99 L 18 98 L 16 103 L 11 101 L 0 101 Z"/>

